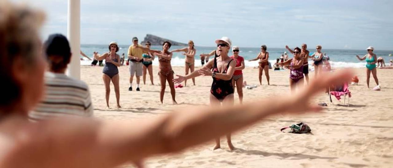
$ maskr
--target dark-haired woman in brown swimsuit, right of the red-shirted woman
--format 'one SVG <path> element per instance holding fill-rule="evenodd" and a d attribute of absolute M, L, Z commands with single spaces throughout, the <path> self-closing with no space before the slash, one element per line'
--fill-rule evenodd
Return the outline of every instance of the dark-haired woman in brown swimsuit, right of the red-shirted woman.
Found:
<path fill-rule="evenodd" d="M 266 52 L 266 45 L 262 45 L 261 46 L 261 52 L 258 54 L 257 58 L 254 58 L 252 60 L 248 60 L 248 61 L 255 61 L 259 59 L 259 84 L 262 85 L 262 75 L 263 75 L 263 71 L 265 71 L 265 75 L 266 75 L 266 80 L 268 80 L 268 85 L 270 85 L 269 82 L 269 53 Z"/>

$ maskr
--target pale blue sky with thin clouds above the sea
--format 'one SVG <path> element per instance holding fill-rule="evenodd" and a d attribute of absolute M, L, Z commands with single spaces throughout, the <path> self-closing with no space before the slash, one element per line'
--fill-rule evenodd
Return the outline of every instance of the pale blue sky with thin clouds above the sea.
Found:
<path fill-rule="evenodd" d="M 22 0 L 13 0 L 22 2 Z M 67 33 L 68 0 L 24 0 L 47 14 L 42 37 Z M 391 0 L 81 0 L 81 44 L 157 35 L 196 46 L 322 45 L 393 50 Z"/>

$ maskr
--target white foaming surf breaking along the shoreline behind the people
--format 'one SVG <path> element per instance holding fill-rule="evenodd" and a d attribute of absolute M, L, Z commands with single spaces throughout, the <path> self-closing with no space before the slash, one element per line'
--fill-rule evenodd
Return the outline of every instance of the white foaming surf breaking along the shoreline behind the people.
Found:
<path fill-rule="evenodd" d="M 213 57 L 210 57 L 212 59 Z M 81 65 L 90 65 L 91 60 L 87 60 L 84 58 L 84 60 L 81 60 Z M 104 61 L 105 62 L 105 61 Z M 174 57 L 172 58 L 171 64 L 172 66 L 184 66 L 185 59 L 184 58 L 179 58 L 179 57 Z M 269 62 L 274 65 L 276 60 L 269 60 Z M 258 66 L 258 61 L 248 61 L 245 60 L 244 64 L 246 67 L 255 67 Z M 312 65 L 312 62 L 309 61 L 309 64 Z M 365 62 L 334 62 L 330 61 L 330 64 L 332 68 L 364 68 L 366 63 Z M 153 65 L 158 66 L 158 59 L 155 59 L 153 61 Z M 195 66 L 201 66 L 200 59 L 195 59 Z"/>

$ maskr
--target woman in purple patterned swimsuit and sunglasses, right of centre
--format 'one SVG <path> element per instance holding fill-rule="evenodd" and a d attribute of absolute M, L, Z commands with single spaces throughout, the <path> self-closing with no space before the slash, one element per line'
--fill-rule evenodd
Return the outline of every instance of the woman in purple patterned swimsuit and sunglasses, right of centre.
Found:
<path fill-rule="evenodd" d="M 278 63 L 281 66 L 284 65 L 284 68 L 289 68 L 291 70 L 289 74 L 289 86 L 292 93 L 295 93 L 296 86 L 303 86 L 303 59 L 300 58 L 300 51 L 301 49 L 299 47 L 296 47 L 294 49 L 293 58 L 290 58 L 285 62 Z"/>

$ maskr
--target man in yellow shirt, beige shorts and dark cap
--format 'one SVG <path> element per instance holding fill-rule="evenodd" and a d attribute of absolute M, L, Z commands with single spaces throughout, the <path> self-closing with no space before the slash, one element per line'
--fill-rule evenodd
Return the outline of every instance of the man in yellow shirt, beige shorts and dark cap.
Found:
<path fill-rule="evenodd" d="M 139 82 L 140 77 L 143 75 L 142 73 L 142 54 L 143 50 L 138 46 L 138 38 L 132 38 L 132 45 L 128 48 L 128 58 L 130 59 L 130 88 L 129 91 L 132 91 L 132 80 L 134 79 L 134 75 L 136 75 L 136 91 L 140 91 Z M 141 46 L 141 45 L 139 45 Z"/>

